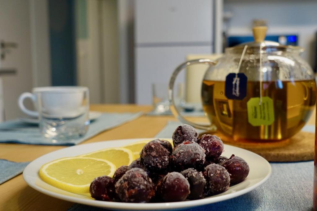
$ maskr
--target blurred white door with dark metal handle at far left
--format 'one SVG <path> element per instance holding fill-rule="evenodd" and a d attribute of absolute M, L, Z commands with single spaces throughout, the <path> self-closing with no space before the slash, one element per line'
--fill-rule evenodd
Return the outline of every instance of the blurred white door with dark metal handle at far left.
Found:
<path fill-rule="evenodd" d="M 0 40 L 17 45 L 16 48 L 10 49 L 10 53 L 6 53 L 0 62 L 0 70 L 16 70 L 15 75 L 0 76 L 3 81 L 6 120 L 23 115 L 17 105 L 17 98 L 21 93 L 31 91 L 34 85 L 50 83 L 47 79 L 49 37 L 46 28 L 48 23 L 46 3 L 46 1 L 34 0 L 0 0 Z M 42 36 L 39 36 L 40 34 Z"/>

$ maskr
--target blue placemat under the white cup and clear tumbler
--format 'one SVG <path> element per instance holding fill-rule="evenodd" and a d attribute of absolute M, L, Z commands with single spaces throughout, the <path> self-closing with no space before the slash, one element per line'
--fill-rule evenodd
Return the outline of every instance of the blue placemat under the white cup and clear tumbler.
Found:
<path fill-rule="evenodd" d="M 104 130 L 117 127 L 142 115 L 138 113 L 103 113 L 89 125 L 87 133 L 79 139 L 52 140 L 44 138 L 38 126 L 23 123 L 20 120 L 7 121 L 0 124 L 0 143 L 65 145 L 72 146 L 83 142 Z"/>

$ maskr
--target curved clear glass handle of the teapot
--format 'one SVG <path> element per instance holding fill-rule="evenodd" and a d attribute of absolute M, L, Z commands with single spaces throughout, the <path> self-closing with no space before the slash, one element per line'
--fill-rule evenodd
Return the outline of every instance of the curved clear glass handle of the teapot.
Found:
<path fill-rule="evenodd" d="M 168 99 L 171 105 L 171 111 L 173 113 L 173 115 L 178 118 L 180 121 L 189 124 L 193 127 L 199 128 L 199 129 L 204 129 L 204 130 L 209 130 L 209 131 L 216 131 L 217 127 L 213 124 L 210 125 L 201 125 L 201 124 L 197 124 L 191 121 L 186 120 L 178 111 L 176 105 L 175 105 L 175 100 L 174 100 L 174 83 L 176 80 L 176 77 L 178 75 L 178 73 L 182 70 L 184 70 L 187 66 L 189 65 L 195 65 L 195 64 L 206 64 L 206 65 L 216 65 L 217 62 L 213 61 L 211 59 L 195 59 L 195 60 L 190 60 L 187 62 L 184 62 L 182 64 L 180 64 L 173 72 L 170 82 L 168 84 Z"/>

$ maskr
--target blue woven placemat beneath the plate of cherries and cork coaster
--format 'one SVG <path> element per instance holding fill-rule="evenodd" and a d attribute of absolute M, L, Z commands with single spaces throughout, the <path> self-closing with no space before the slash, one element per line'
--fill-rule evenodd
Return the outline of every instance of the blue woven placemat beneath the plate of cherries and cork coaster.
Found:
<path fill-rule="evenodd" d="M 182 123 L 170 121 L 155 137 L 171 138 L 175 128 Z M 314 127 L 303 131 L 314 133 Z M 271 163 L 272 175 L 255 190 L 223 202 L 184 209 L 207 210 L 311 210 L 313 207 L 314 162 Z M 74 204 L 68 211 L 101 211 L 105 209 Z"/>

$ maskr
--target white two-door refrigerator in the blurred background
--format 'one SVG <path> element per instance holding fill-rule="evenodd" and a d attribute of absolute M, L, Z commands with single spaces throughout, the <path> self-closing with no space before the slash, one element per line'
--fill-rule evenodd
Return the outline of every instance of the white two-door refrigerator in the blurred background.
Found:
<path fill-rule="evenodd" d="M 137 104 L 151 104 L 151 84 L 168 83 L 173 70 L 188 54 L 213 52 L 213 8 L 213 0 L 135 1 Z M 184 77 L 182 74 L 178 78 Z"/>

